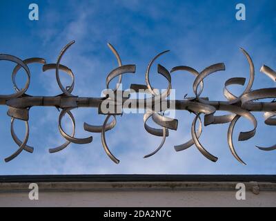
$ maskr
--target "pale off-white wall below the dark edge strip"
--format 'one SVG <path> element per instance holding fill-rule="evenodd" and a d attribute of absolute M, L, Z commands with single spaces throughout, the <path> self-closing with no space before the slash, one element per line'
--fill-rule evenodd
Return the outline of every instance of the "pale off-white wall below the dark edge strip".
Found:
<path fill-rule="evenodd" d="M 48 182 L 39 200 L 28 185 L 0 184 L 0 206 L 276 206 L 274 183 L 246 183 L 246 200 L 235 198 L 235 182 Z"/>

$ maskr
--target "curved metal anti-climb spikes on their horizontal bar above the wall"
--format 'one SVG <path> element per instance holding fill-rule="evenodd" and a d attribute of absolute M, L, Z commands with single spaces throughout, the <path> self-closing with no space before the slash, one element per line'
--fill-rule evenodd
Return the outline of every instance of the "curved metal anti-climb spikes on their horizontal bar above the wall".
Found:
<path fill-rule="evenodd" d="M 75 118 L 71 113 L 71 110 L 74 108 L 79 107 L 92 107 L 92 108 L 98 108 L 99 114 L 105 114 L 106 119 L 103 122 L 103 125 L 101 126 L 95 126 L 90 125 L 87 123 L 83 124 L 83 128 L 85 131 L 89 131 L 92 133 L 101 133 L 101 142 L 103 144 L 103 148 L 106 151 L 107 155 L 110 157 L 110 159 L 115 162 L 119 163 L 119 160 L 113 155 L 108 148 L 108 144 L 106 143 L 106 131 L 110 131 L 112 128 L 116 125 L 116 115 L 121 115 L 121 111 L 114 112 L 114 113 L 103 113 L 101 110 L 101 103 L 104 101 L 109 101 L 114 106 L 122 107 L 124 102 L 126 102 L 126 99 L 121 99 L 121 101 L 117 99 L 112 99 L 112 97 L 108 97 L 106 95 L 105 97 L 78 97 L 75 95 L 72 95 L 72 91 L 74 89 L 75 85 L 75 75 L 72 73 L 72 70 L 68 68 L 67 66 L 63 66 L 60 64 L 61 59 L 68 50 L 72 44 L 74 44 L 75 41 L 71 41 L 69 44 L 67 44 L 60 52 L 59 57 L 57 59 L 56 64 L 46 64 L 46 60 L 42 58 L 30 58 L 26 60 L 21 60 L 17 57 L 14 57 L 12 55 L 0 55 L 0 60 L 6 60 L 6 61 L 12 61 L 16 64 L 14 67 L 14 70 L 12 71 L 12 83 L 14 85 L 15 93 L 12 95 L 0 95 L 0 104 L 8 106 L 8 115 L 11 117 L 11 134 L 14 142 L 19 146 L 17 151 L 12 153 L 9 157 L 5 159 L 6 162 L 9 162 L 10 160 L 13 160 L 14 157 L 17 157 L 22 151 L 28 151 L 32 153 L 34 151 L 34 148 L 32 146 L 28 146 L 28 137 L 29 137 L 29 110 L 32 106 L 55 106 L 57 108 L 61 108 L 61 113 L 59 115 L 59 132 L 61 135 L 66 139 L 66 142 L 62 144 L 61 146 L 57 146 L 55 148 L 50 148 L 50 153 L 56 153 L 58 151 L 63 150 L 63 148 L 66 148 L 71 142 L 75 144 L 88 144 L 92 142 L 92 136 L 85 137 L 85 138 L 77 138 L 75 137 Z M 126 73 L 135 73 L 135 65 L 128 64 L 123 65 L 121 62 L 121 58 L 119 57 L 118 52 L 113 48 L 111 44 L 108 44 L 108 47 L 110 50 L 112 50 L 113 54 L 117 58 L 118 62 L 118 68 L 115 68 L 108 74 L 106 77 L 106 88 L 109 89 L 109 84 L 112 79 L 115 77 L 118 77 L 118 83 L 121 83 L 122 75 Z M 152 64 L 155 62 L 155 60 L 163 55 L 164 53 L 168 52 L 168 50 L 161 52 L 159 55 L 155 56 L 150 63 L 148 64 L 148 68 L 146 70 L 146 85 L 141 84 L 131 84 L 130 88 L 132 90 L 135 90 L 135 92 L 138 92 L 139 89 L 147 89 L 146 91 L 150 94 L 150 98 L 145 99 L 135 99 L 132 100 L 132 102 L 136 102 L 137 104 L 146 104 L 148 99 L 154 99 L 159 100 L 159 102 L 167 102 L 170 104 L 174 104 L 175 110 L 183 110 L 183 111 L 190 111 L 190 113 L 195 114 L 195 119 L 193 120 L 192 126 L 191 126 L 191 139 L 181 145 L 175 146 L 175 151 L 183 151 L 190 146 L 195 146 L 197 149 L 206 157 L 208 160 L 211 160 L 213 162 L 217 161 L 217 157 L 209 153 L 204 146 L 199 142 L 199 137 L 202 132 L 202 123 L 201 123 L 201 114 L 204 114 L 204 126 L 208 126 L 209 124 L 226 124 L 230 123 L 228 127 L 228 146 L 230 148 L 230 152 L 233 154 L 233 156 L 242 164 L 245 164 L 244 161 L 237 155 L 237 152 L 235 151 L 235 147 L 233 145 L 233 130 L 235 128 L 235 124 L 237 123 L 237 120 L 240 117 L 245 117 L 246 119 L 250 120 L 250 122 L 253 124 L 253 129 L 251 131 L 245 131 L 239 133 L 239 140 L 248 140 L 251 137 L 255 135 L 256 128 L 257 128 L 257 120 L 255 119 L 254 115 L 251 113 L 253 111 L 262 111 L 264 112 L 265 117 L 265 123 L 268 125 L 276 125 L 276 102 L 257 102 L 259 99 L 265 99 L 265 98 L 276 98 L 276 88 L 261 88 L 257 90 L 251 90 L 251 87 L 253 85 L 254 81 L 254 65 L 253 61 L 246 52 L 246 50 L 242 49 L 243 54 L 245 55 L 249 68 L 250 68 L 250 76 L 248 84 L 244 90 L 244 92 L 239 95 L 233 95 L 233 93 L 230 92 L 228 89 L 228 86 L 233 84 L 238 85 L 244 85 L 246 82 L 246 79 L 244 77 L 233 77 L 228 79 L 225 82 L 224 85 L 224 96 L 226 97 L 227 101 L 209 101 L 208 97 L 200 97 L 203 89 L 204 89 L 204 79 L 217 71 L 225 70 L 225 66 L 223 63 L 219 64 L 213 64 L 209 66 L 208 68 L 205 68 L 200 73 L 188 66 L 176 66 L 175 68 L 172 68 L 170 72 L 164 67 L 158 64 L 157 71 L 159 74 L 161 74 L 163 77 L 166 78 L 168 81 L 168 88 L 163 93 L 157 93 L 157 90 L 155 88 L 152 88 L 152 85 L 150 84 L 149 74 L 150 74 L 150 68 Z M 30 96 L 26 94 L 26 91 L 28 90 L 28 87 L 30 85 L 30 69 L 28 67 L 28 64 L 32 63 L 39 63 L 42 64 L 42 70 L 52 70 L 54 69 L 56 71 L 56 78 L 57 78 L 57 84 L 59 85 L 59 88 L 62 91 L 62 94 L 57 96 Z M 23 68 L 27 74 L 27 82 L 24 88 L 19 89 L 15 82 L 15 77 L 18 73 L 18 71 Z M 63 72 L 67 73 L 72 78 L 72 84 L 70 86 L 63 86 L 61 83 L 61 80 L 59 78 L 59 71 L 62 70 Z M 175 73 L 177 71 L 185 71 L 188 73 L 191 73 L 195 75 L 195 81 L 193 83 L 193 91 L 195 93 L 195 97 L 189 97 L 184 98 L 183 100 L 170 100 L 168 99 L 168 96 L 170 95 L 170 90 L 172 89 L 171 85 L 171 74 Z M 266 74 L 268 77 L 273 79 L 273 81 L 276 81 L 276 73 L 274 70 L 269 68 L 268 66 L 262 66 L 261 70 L 262 73 Z M 119 85 L 117 84 L 117 85 Z M 199 88 L 199 90 L 198 90 Z M 112 90 L 114 93 L 119 93 L 119 88 L 115 88 Z M 146 106 L 146 113 L 144 114 L 144 127 L 148 133 L 151 135 L 162 137 L 161 144 L 156 148 L 155 151 L 152 153 L 149 153 L 145 157 L 150 157 L 157 153 L 160 148 L 163 146 L 166 137 L 169 135 L 169 129 L 171 130 L 177 130 L 177 119 L 169 119 L 168 117 L 162 115 L 161 113 L 163 111 L 166 111 L 164 109 L 161 109 L 160 111 L 155 111 L 153 106 Z M 216 111 L 228 111 L 228 115 L 215 115 Z M 68 135 L 66 133 L 62 126 L 61 126 L 61 120 L 64 115 L 68 115 L 72 121 L 72 133 Z M 110 117 L 112 117 L 112 121 L 109 122 Z M 147 124 L 147 120 L 152 118 L 153 122 L 155 122 L 157 125 L 161 126 L 161 128 L 153 128 Z M 21 141 L 17 137 L 17 135 L 14 133 L 14 119 L 20 119 L 25 122 L 26 124 L 26 135 L 24 137 L 24 140 Z M 198 122 L 199 126 L 196 130 L 196 123 Z M 276 149 L 276 144 L 269 147 L 262 147 L 257 146 L 262 151 L 273 151 Z"/>

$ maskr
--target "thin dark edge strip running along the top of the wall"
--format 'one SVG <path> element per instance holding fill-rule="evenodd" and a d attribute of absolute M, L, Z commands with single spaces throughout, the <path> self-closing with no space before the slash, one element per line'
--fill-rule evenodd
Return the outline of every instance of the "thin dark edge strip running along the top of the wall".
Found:
<path fill-rule="evenodd" d="M 0 175 L 0 182 L 276 182 L 276 175 Z"/>

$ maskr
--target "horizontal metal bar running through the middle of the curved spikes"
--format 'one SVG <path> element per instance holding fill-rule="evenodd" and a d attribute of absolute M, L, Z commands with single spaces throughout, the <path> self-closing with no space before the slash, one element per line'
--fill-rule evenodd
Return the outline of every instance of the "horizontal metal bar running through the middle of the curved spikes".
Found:
<path fill-rule="evenodd" d="M 0 105 L 2 106 L 11 106 L 14 108 L 30 108 L 32 106 L 54 106 L 58 108 L 99 108 L 101 103 L 103 102 L 102 97 L 51 97 L 51 96 L 34 96 L 34 97 L 19 97 L 14 99 L 0 99 Z M 129 99 L 122 98 L 121 103 L 118 104 L 123 105 L 128 102 L 131 104 L 135 104 L 138 108 L 152 108 L 156 106 L 158 102 L 150 103 L 150 99 Z M 190 106 L 197 106 L 201 104 L 198 101 L 190 101 L 190 100 L 170 100 L 166 99 L 166 110 L 189 110 Z M 70 103 L 77 104 L 76 106 L 70 106 Z M 217 111 L 231 111 L 232 106 L 239 106 L 245 111 L 257 111 L 257 112 L 266 112 L 266 111 L 276 111 L 276 103 L 266 103 L 266 102 L 258 102 L 256 104 L 245 104 L 244 106 L 238 104 L 229 104 L 228 102 L 221 101 L 210 101 L 208 105 L 213 106 Z M 223 108 L 221 107 L 223 106 Z M 172 108 L 173 107 L 173 108 Z M 228 108 L 229 107 L 229 108 Z M 124 108 L 128 108 L 125 106 Z M 130 107 L 132 108 L 132 107 Z M 166 111 L 162 110 L 162 111 Z"/>

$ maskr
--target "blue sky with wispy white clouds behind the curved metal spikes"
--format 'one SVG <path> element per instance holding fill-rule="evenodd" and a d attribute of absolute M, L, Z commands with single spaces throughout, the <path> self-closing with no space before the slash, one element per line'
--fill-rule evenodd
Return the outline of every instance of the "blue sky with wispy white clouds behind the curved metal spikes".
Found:
<path fill-rule="evenodd" d="M 37 3 L 39 21 L 28 19 L 28 6 Z M 246 21 L 235 19 L 235 6 L 244 3 Z M 117 48 L 123 64 L 136 64 L 135 75 L 123 77 L 123 88 L 131 83 L 145 84 L 144 73 L 150 59 L 163 50 L 170 53 L 158 63 L 170 70 L 174 66 L 191 66 L 203 70 L 211 64 L 224 62 L 226 71 L 210 75 L 204 81 L 203 97 L 225 100 L 222 89 L 230 77 L 246 77 L 247 61 L 239 47 L 247 50 L 255 65 L 253 89 L 274 87 L 275 83 L 259 68 L 266 64 L 276 69 L 276 2 L 275 1 L 1 1 L 0 52 L 21 59 L 43 57 L 55 63 L 59 51 L 69 41 L 76 43 L 66 52 L 61 64 L 75 73 L 74 95 L 99 97 L 105 88 L 106 75 L 117 67 L 115 57 L 107 47 Z M 0 62 L 1 94 L 12 93 L 10 73 L 13 65 Z M 29 95 L 58 95 L 61 90 L 55 80 L 55 71 L 43 73 L 41 65 L 30 65 L 32 71 Z M 158 77 L 156 64 L 151 82 L 155 88 L 166 88 L 166 81 Z M 26 80 L 23 71 L 17 77 L 19 86 Z M 180 99 L 186 93 L 193 96 L 192 75 L 172 73 L 172 86 Z M 62 78 L 64 84 L 70 82 Z M 247 82 L 246 81 L 246 82 Z M 236 95 L 244 88 L 234 87 Z M 100 134 L 93 134 L 90 144 L 70 144 L 65 150 L 50 154 L 48 148 L 64 142 L 59 135 L 56 108 L 32 108 L 30 111 L 30 139 L 34 153 L 23 151 L 12 162 L 4 158 L 17 145 L 10 135 L 10 117 L 7 107 L 0 106 L 0 174 L 96 174 L 96 173 L 170 173 L 170 174 L 275 174 L 276 151 L 260 151 L 255 145 L 270 146 L 276 142 L 276 129 L 266 126 L 262 113 L 254 113 L 258 121 L 255 137 L 238 142 L 240 131 L 251 128 L 246 119 L 240 119 L 234 133 L 237 153 L 247 163 L 243 166 L 231 155 L 227 144 L 228 124 L 203 128 L 201 144 L 219 157 L 216 163 L 207 160 L 195 146 L 175 152 L 173 146 L 190 139 L 193 116 L 177 111 L 179 127 L 170 131 L 161 151 L 143 159 L 161 142 L 161 137 L 144 131 L 143 115 L 124 115 L 117 126 L 106 133 L 108 145 L 121 160 L 114 164 L 101 146 Z M 97 110 L 78 108 L 72 111 L 77 120 L 76 137 L 87 137 L 83 122 L 102 124 L 104 117 Z M 65 123 L 67 126 L 67 122 Z M 133 126 L 135 125 L 135 126 Z M 23 138 L 23 123 L 17 121 L 16 132 Z M 70 131 L 70 126 L 68 126 Z"/>

